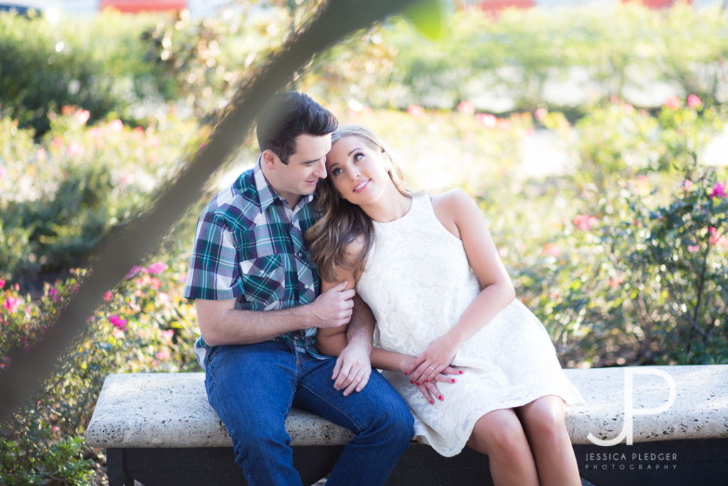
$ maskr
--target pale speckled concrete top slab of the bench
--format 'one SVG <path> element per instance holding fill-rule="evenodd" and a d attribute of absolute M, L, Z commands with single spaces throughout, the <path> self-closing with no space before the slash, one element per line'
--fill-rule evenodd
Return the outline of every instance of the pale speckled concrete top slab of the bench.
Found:
<path fill-rule="evenodd" d="M 586 402 L 566 411 L 574 444 L 590 444 L 590 433 L 613 439 L 625 426 L 625 417 L 633 424 L 633 442 L 728 437 L 728 365 L 565 372 Z M 626 397 L 625 385 L 632 388 Z M 625 398 L 630 407 L 625 407 Z M 294 446 L 346 444 L 352 437 L 346 429 L 297 409 L 291 410 L 286 428 Z M 103 448 L 232 446 L 207 404 L 203 373 L 109 375 L 86 439 L 90 446 Z"/>

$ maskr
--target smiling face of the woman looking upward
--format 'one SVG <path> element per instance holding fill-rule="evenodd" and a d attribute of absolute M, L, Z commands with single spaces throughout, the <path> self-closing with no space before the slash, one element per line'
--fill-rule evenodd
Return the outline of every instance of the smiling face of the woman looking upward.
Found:
<path fill-rule="evenodd" d="M 389 186 L 387 158 L 358 136 L 339 138 L 326 156 L 326 171 L 336 191 L 349 203 L 371 203 Z"/>

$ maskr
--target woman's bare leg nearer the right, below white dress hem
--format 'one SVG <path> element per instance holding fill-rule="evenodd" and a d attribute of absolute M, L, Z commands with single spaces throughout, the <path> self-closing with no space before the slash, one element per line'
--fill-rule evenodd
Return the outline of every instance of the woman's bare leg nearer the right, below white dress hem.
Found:
<path fill-rule="evenodd" d="M 543 396 L 516 409 L 531 444 L 542 486 L 579 486 L 579 466 L 566 430 L 563 401 Z"/>

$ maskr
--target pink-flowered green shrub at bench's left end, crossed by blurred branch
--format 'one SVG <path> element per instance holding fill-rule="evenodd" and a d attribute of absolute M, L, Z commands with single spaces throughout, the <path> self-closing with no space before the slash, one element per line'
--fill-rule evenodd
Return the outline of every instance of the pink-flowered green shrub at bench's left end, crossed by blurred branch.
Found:
<path fill-rule="evenodd" d="M 89 484 L 100 452 L 84 444 L 103 380 L 113 372 L 198 371 L 191 352 L 197 339 L 194 305 L 182 297 L 187 257 L 135 267 L 106 293 L 89 328 L 58 360 L 44 388 L 1 424 L 2 484 Z M 33 302 L 17 285 L 0 281 L 0 373 L 12 363 L 11 347 L 32 347 L 55 311 L 76 289 L 84 271 L 46 284 Z"/>

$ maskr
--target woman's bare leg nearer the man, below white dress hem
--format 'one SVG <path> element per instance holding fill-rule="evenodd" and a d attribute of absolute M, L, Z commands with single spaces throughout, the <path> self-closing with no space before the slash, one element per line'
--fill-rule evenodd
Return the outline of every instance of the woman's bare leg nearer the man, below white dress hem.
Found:
<path fill-rule="evenodd" d="M 467 445 L 488 455 L 491 478 L 496 486 L 538 486 L 531 448 L 513 409 L 494 410 L 483 415 L 475 423 Z"/>

